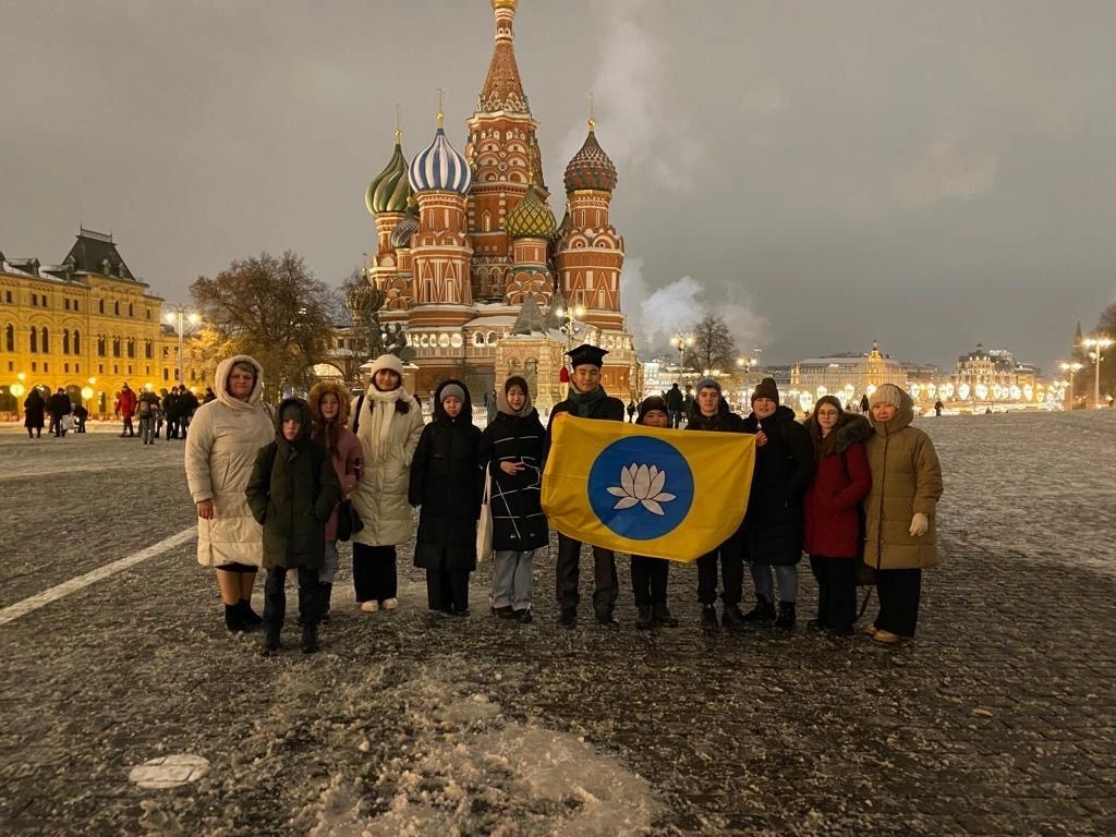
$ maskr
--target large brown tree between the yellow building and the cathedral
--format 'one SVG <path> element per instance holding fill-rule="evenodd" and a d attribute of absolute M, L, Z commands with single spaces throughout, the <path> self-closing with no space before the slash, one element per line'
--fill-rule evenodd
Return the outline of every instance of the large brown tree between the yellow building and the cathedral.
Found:
<path fill-rule="evenodd" d="M 213 279 L 190 286 L 205 323 L 229 350 L 263 365 L 264 397 L 278 402 L 312 383 L 314 365 L 333 337 L 329 288 L 314 278 L 300 256 L 260 253 L 233 261 Z"/>

